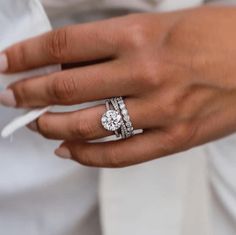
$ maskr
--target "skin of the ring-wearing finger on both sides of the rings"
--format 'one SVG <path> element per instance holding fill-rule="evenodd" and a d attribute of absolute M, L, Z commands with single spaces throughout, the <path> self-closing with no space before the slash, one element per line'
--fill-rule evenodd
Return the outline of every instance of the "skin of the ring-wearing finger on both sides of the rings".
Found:
<path fill-rule="evenodd" d="M 135 129 L 151 128 L 153 123 L 147 122 L 147 114 L 143 112 L 139 99 L 125 99 L 129 110 L 130 119 Z M 68 113 L 47 113 L 31 124 L 30 128 L 42 134 L 48 139 L 58 140 L 93 140 L 114 135 L 106 131 L 101 124 L 101 117 L 106 111 L 105 105 L 82 109 Z M 157 121 L 158 117 L 155 117 Z M 160 122 L 158 122 L 160 124 Z"/>

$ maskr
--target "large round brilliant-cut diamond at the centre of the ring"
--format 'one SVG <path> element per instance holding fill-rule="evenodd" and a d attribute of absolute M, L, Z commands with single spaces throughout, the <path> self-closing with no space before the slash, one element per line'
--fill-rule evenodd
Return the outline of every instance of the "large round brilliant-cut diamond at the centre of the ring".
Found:
<path fill-rule="evenodd" d="M 115 110 L 108 110 L 102 116 L 102 125 L 108 131 L 116 131 L 121 126 L 122 117 L 119 112 Z"/>

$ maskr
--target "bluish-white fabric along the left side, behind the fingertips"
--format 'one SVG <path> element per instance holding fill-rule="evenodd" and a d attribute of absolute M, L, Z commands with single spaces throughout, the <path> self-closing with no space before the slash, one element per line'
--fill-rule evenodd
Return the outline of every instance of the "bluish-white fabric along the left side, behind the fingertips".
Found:
<path fill-rule="evenodd" d="M 35 0 L 0 0 L 0 25 L 0 49 L 50 29 Z M 21 76 L 0 75 L 0 81 Z M 0 129 L 20 113 L 0 107 Z M 26 128 L 12 140 L 0 140 L 0 234 L 99 234 L 97 171 L 56 158 L 53 151 L 58 145 Z"/>

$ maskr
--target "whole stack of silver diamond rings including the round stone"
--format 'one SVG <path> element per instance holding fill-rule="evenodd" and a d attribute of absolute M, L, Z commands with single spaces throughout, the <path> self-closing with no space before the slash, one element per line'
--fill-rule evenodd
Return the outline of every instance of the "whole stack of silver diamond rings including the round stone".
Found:
<path fill-rule="evenodd" d="M 134 128 L 122 97 L 106 100 L 107 111 L 102 115 L 101 123 L 108 131 L 114 131 L 117 137 L 127 139 L 134 135 Z"/>

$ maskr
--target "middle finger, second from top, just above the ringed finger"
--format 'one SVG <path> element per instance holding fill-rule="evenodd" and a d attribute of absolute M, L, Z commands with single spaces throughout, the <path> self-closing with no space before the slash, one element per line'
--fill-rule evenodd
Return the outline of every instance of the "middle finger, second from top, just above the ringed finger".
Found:
<path fill-rule="evenodd" d="M 128 66 L 109 62 L 53 73 L 12 84 L 7 96 L 0 96 L 2 104 L 17 107 L 73 105 L 113 96 L 126 96 L 137 90 Z M 15 101 L 12 99 L 12 91 Z"/>

